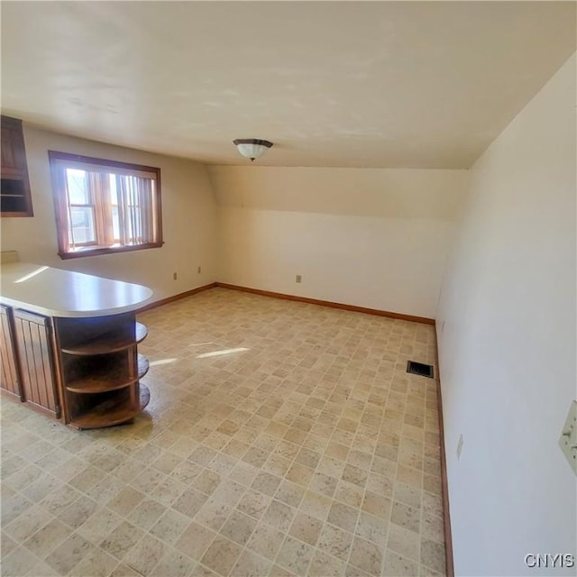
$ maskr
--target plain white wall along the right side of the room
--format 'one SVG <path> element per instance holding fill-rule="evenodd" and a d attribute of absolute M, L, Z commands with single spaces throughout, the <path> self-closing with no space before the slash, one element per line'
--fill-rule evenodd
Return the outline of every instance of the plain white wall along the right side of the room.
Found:
<path fill-rule="evenodd" d="M 540 574 L 526 554 L 575 554 L 577 484 L 557 446 L 577 397 L 575 65 L 473 166 L 444 279 L 437 333 L 458 575 Z"/>

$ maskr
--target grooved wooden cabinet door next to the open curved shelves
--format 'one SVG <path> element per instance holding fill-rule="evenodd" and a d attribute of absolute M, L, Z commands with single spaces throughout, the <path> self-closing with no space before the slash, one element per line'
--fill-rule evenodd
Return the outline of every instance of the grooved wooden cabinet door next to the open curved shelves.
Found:
<path fill-rule="evenodd" d="M 50 343 L 50 318 L 16 308 L 14 327 L 23 400 L 60 418 Z"/>

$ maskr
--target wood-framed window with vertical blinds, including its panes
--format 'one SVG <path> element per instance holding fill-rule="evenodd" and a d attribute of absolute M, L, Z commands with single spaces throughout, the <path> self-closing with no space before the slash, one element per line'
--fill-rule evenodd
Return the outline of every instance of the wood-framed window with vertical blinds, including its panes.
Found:
<path fill-rule="evenodd" d="M 60 258 L 162 246 L 160 169 L 48 155 Z"/>

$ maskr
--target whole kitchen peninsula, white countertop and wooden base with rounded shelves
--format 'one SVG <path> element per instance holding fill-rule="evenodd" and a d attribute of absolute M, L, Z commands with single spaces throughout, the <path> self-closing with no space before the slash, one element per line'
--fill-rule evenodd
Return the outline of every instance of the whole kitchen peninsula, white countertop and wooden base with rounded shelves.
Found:
<path fill-rule="evenodd" d="M 38 264 L 2 264 L 0 388 L 76 428 L 130 421 L 146 407 L 137 351 L 146 337 L 135 311 L 142 285 Z"/>

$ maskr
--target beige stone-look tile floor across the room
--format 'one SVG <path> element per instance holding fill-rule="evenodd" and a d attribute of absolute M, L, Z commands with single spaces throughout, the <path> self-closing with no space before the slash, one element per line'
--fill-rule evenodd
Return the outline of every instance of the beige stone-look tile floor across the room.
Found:
<path fill-rule="evenodd" d="M 211 289 L 141 316 L 151 404 L 3 399 L 2 575 L 443 575 L 432 326 Z"/>

